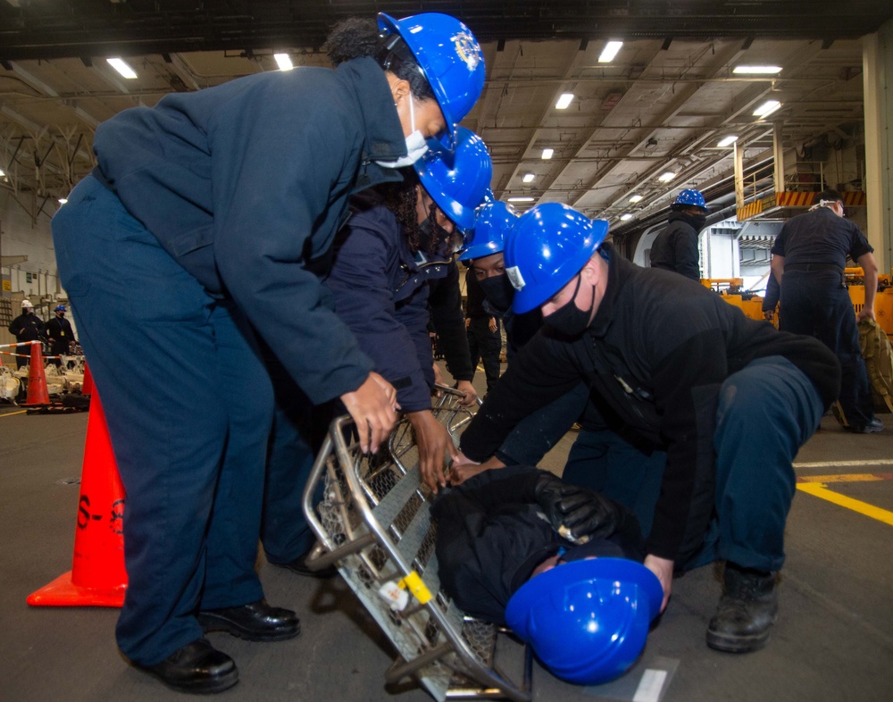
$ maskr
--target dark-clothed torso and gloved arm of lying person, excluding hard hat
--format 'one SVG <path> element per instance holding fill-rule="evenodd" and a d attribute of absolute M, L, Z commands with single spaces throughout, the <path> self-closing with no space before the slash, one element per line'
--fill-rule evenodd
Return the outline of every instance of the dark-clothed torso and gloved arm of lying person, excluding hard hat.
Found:
<path fill-rule="evenodd" d="M 505 624 L 505 606 L 524 582 L 590 556 L 645 558 L 635 514 L 595 490 L 529 465 L 484 471 L 441 489 L 440 584 L 465 612 Z"/>

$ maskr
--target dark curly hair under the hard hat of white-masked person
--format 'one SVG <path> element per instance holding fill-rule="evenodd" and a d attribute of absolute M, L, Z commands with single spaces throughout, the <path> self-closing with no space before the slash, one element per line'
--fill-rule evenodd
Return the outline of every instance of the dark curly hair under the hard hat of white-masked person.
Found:
<path fill-rule="evenodd" d="M 355 58 L 374 58 L 383 70 L 406 80 L 417 100 L 435 99 L 428 79 L 405 41 L 399 35 L 382 35 L 374 20 L 349 17 L 339 21 L 326 38 L 322 50 L 335 66 Z"/>

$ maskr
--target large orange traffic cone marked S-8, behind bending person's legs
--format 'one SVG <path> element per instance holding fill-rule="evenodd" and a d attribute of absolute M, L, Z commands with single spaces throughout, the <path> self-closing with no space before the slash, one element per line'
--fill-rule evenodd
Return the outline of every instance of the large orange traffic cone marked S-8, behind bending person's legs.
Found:
<path fill-rule="evenodd" d="M 127 589 L 123 515 L 124 486 L 115 464 L 103 405 L 94 389 L 80 476 L 74 562 L 71 571 L 31 593 L 28 604 L 120 607 Z"/>

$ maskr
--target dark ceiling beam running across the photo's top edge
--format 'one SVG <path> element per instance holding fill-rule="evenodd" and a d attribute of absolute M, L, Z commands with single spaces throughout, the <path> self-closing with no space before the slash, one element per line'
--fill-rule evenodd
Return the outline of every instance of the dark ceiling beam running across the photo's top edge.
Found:
<path fill-rule="evenodd" d="M 20 6 L 21 5 L 21 6 Z M 161 54 L 265 46 L 321 46 L 336 21 L 373 17 L 375 1 L 69 0 L 0 3 L 0 59 Z M 773 37 L 857 38 L 893 15 L 880 0 L 479 0 L 393 2 L 396 16 L 444 12 L 461 17 L 481 41 L 508 39 Z"/>

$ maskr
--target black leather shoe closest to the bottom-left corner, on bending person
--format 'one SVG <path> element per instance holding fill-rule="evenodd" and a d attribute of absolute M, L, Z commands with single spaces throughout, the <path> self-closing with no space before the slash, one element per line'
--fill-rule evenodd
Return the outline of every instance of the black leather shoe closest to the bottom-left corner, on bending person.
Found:
<path fill-rule="evenodd" d="M 238 682 L 238 669 L 230 656 L 218 651 L 208 639 L 197 639 L 155 665 L 136 665 L 152 673 L 171 689 L 211 694 Z"/>

